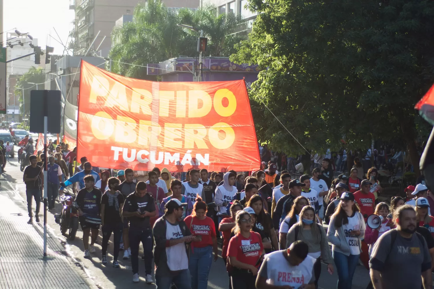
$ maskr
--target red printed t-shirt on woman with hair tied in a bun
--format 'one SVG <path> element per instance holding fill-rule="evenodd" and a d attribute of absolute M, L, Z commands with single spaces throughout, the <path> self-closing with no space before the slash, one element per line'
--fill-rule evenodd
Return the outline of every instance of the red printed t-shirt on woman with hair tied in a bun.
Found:
<path fill-rule="evenodd" d="M 191 221 L 193 219 L 193 221 Z M 204 220 L 200 220 L 198 217 L 187 216 L 184 219 L 190 232 L 194 236 L 202 236 L 202 241 L 191 242 L 195 248 L 203 248 L 213 244 L 212 238 L 216 237 L 216 228 L 214 220 L 210 217 L 205 217 Z"/>

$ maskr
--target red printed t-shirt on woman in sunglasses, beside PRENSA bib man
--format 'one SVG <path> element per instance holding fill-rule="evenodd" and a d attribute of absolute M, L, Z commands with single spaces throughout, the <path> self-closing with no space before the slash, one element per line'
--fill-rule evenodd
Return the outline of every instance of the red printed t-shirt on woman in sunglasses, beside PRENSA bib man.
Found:
<path fill-rule="evenodd" d="M 250 231 L 250 238 L 245 238 L 238 233 L 230 239 L 227 256 L 237 257 L 238 261 L 255 266 L 263 250 L 261 235 Z"/>

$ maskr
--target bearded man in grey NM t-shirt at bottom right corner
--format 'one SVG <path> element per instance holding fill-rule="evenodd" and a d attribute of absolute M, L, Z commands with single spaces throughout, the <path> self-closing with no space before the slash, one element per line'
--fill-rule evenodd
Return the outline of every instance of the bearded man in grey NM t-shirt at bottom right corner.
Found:
<path fill-rule="evenodd" d="M 369 267 L 374 288 L 431 288 L 431 256 L 425 239 L 416 232 L 414 208 L 399 207 L 393 220 L 397 228 L 381 235 L 372 250 Z"/>

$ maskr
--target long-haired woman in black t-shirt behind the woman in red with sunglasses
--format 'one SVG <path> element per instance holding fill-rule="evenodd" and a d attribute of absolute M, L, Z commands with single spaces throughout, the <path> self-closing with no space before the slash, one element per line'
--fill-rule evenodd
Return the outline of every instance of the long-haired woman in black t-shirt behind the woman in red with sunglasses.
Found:
<path fill-rule="evenodd" d="M 271 240 L 274 250 L 279 250 L 279 243 L 277 243 L 276 231 L 274 230 L 273 220 L 269 213 L 264 210 L 263 199 L 260 195 L 253 195 L 250 200 L 246 203 L 246 207 L 251 207 L 256 214 L 256 224 L 255 227 L 263 230 L 266 238 Z M 267 249 L 266 252 L 272 252 L 272 249 Z"/>

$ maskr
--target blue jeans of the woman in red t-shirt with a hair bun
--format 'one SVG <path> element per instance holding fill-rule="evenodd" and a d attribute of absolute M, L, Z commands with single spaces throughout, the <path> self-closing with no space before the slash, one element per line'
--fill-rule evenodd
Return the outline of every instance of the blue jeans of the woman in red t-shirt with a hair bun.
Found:
<path fill-rule="evenodd" d="M 188 269 L 191 275 L 191 289 L 207 289 L 208 275 L 213 263 L 213 246 L 190 248 Z"/>

